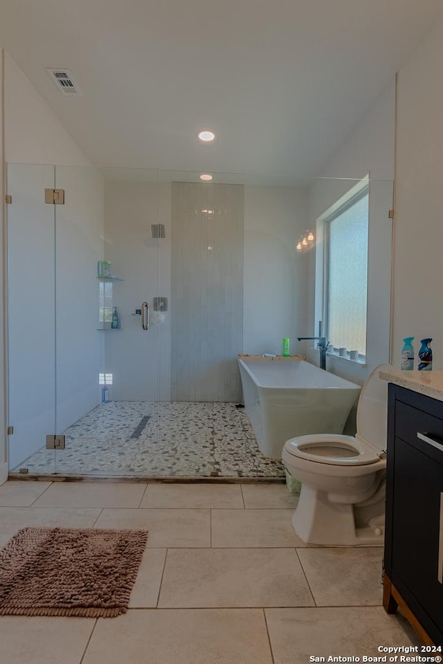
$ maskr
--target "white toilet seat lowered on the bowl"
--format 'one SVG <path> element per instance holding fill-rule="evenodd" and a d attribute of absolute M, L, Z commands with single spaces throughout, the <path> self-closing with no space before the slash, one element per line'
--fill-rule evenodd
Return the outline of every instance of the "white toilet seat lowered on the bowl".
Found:
<path fill-rule="evenodd" d="M 380 460 L 377 450 L 354 436 L 338 433 L 317 433 L 287 440 L 288 454 L 316 463 L 357 466 Z"/>

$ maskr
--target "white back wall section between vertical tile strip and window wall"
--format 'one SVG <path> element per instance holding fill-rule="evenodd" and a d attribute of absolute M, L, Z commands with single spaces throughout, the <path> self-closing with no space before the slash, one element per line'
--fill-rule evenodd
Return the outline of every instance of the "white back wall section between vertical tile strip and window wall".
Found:
<path fill-rule="evenodd" d="M 307 253 L 295 244 L 307 228 L 305 189 L 244 188 L 243 352 L 280 355 L 282 338 L 309 332 Z"/>

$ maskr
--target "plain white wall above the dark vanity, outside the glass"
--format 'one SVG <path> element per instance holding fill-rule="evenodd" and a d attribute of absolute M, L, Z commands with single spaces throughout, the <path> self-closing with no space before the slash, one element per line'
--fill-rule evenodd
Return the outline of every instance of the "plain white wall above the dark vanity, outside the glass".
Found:
<path fill-rule="evenodd" d="M 402 339 L 433 337 L 443 369 L 443 19 L 401 67 L 397 84 L 393 364 Z"/>

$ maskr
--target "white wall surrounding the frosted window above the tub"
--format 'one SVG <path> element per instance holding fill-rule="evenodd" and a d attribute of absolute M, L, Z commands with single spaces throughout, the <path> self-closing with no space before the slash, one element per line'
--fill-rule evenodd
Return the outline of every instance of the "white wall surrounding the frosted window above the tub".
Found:
<path fill-rule="evenodd" d="M 388 213 L 392 208 L 394 150 L 395 81 L 392 81 L 341 149 L 325 164 L 320 179 L 309 188 L 309 224 L 315 226 L 316 219 L 354 186 L 356 179 L 370 174 L 366 366 L 327 357 L 328 370 L 359 384 L 363 384 L 377 364 L 389 361 L 392 224 Z M 318 332 L 318 321 L 322 318 L 319 307 L 315 307 L 315 301 L 320 301 L 319 292 L 315 297 L 316 269 L 319 271 L 321 266 L 316 266 L 314 252 L 311 254 L 308 310 L 310 330 L 314 333 Z M 307 342 L 299 343 L 298 352 L 318 361 L 318 352 L 313 352 Z"/>

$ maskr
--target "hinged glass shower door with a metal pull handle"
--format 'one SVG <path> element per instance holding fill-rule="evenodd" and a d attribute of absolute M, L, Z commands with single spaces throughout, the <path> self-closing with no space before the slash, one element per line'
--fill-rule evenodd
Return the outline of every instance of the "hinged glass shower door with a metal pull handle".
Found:
<path fill-rule="evenodd" d="M 158 174 L 56 169 L 57 452 L 62 474 L 156 472 Z"/>

